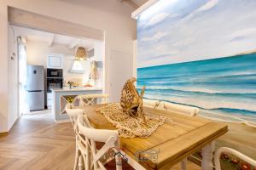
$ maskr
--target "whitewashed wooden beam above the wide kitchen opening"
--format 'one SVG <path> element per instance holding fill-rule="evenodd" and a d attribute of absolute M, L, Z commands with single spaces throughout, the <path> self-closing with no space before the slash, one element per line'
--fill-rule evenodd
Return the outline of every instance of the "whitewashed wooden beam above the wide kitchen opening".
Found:
<path fill-rule="evenodd" d="M 8 7 L 8 20 L 15 26 L 64 34 L 70 37 L 87 37 L 104 41 L 104 31 L 80 25 L 66 20 L 58 20 L 49 16 L 28 12 L 19 8 Z"/>

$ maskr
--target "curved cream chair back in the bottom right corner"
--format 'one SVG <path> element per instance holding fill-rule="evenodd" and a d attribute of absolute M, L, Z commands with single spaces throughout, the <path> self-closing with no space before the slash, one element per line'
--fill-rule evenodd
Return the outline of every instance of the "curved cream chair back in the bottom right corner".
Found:
<path fill-rule="evenodd" d="M 218 148 L 218 150 L 214 154 L 214 162 L 215 162 L 215 169 L 216 170 L 221 170 L 219 159 L 221 158 L 222 154 L 230 154 L 232 156 L 236 156 L 237 158 L 241 159 L 242 161 L 247 162 L 247 164 L 240 162 L 241 167 L 242 166 L 253 166 L 254 168 L 256 168 L 256 161 L 253 160 L 252 158 L 241 154 L 237 150 L 233 150 L 233 149 L 230 149 L 230 148 L 227 148 L 227 147 L 220 147 L 220 148 Z M 239 163 L 239 162 L 237 161 L 236 163 Z M 251 168 L 242 167 L 241 169 L 251 169 Z"/>

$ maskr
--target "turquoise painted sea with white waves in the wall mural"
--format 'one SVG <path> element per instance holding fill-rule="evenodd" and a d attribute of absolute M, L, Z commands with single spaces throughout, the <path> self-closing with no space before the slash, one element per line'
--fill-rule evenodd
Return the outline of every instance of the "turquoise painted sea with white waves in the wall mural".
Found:
<path fill-rule="evenodd" d="M 201 116 L 256 123 L 256 53 L 137 69 L 144 97 L 201 109 Z"/>

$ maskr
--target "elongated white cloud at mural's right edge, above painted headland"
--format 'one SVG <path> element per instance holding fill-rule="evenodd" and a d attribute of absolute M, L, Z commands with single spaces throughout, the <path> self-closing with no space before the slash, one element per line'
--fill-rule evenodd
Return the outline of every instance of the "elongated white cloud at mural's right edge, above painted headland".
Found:
<path fill-rule="evenodd" d="M 242 38 L 251 37 L 253 34 L 256 35 L 256 28 L 247 28 L 240 31 L 235 31 L 226 38 L 228 41 L 235 41 L 240 40 Z"/>

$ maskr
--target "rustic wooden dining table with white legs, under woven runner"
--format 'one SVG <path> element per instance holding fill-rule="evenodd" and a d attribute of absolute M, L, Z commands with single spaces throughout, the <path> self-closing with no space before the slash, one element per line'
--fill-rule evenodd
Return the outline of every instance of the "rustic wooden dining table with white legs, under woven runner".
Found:
<path fill-rule="evenodd" d="M 106 104 L 105 104 L 106 105 Z M 84 107 L 92 126 L 98 129 L 116 129 L 99 111 L 104 105 Z M 166 116 L 167 122 L 157 128 L 148 138 L 121 138 L 120 147 L 127 156 L 145 169 L 170 169 L 191 154 L 202 149 L 202 170 L 212 170 L 214 140 L 228 132 L 226 124 L 212 122 L 201 116 L 186 116 L 172 111 L 160 111 L 144 107 L 148 113 Z M 147 159 L 144 159 L 145 155 Z"/>

